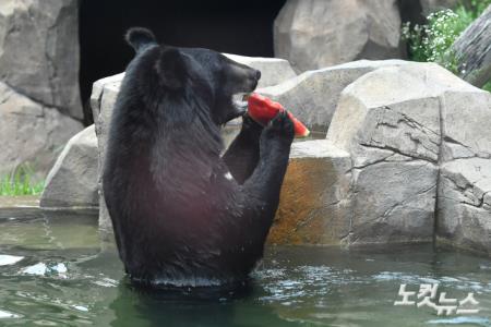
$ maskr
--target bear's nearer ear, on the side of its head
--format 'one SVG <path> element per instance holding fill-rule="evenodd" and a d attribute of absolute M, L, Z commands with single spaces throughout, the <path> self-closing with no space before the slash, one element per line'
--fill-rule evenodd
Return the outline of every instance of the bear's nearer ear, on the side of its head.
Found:
<path fill-rule="evenodd" d="M 184 55 L 179 49 L 172 47 L 161 48 L 156 69 L 164 86 L 171 89 L 184 87 L 188 70 Z"/>

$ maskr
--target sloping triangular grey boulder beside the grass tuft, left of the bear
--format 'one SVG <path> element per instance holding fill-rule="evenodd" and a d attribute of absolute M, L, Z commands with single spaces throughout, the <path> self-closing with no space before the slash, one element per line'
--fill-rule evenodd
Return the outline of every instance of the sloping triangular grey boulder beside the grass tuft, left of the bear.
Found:
<path fill-rule="evenodd" d="M 97 137 L 94 125 L 73 136 L 46 180 L 41 207 L 96 207 Z"/>

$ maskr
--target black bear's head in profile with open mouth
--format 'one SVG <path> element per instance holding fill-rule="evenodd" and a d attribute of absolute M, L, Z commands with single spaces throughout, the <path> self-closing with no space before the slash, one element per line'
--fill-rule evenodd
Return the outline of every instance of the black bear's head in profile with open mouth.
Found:
<path fill-rule="evenodd" d="M 148 81 L 148 89 L 158 87 L 169 96 L 191 95 L 204 101 L 203 107 L 218 125 L 246 113 L 243 96 L 253 92 L 261 78 L 260 71 L 213 50 L 158 45 L 146 28 L 131 28 L 127 41 L 137 57 L 152 59 L 141 61 L 152 64 L 139 70 Z"/>

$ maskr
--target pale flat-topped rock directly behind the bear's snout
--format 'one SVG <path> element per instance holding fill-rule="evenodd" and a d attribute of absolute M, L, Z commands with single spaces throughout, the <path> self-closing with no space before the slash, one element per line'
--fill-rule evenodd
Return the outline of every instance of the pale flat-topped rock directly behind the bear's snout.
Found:
<path fill-rule="evenodd" d="M 246 57 L 224 53 L 233 61 L 240 62 L 261 71 L 258 87 L 276 85 L 297 74 L 287 60 L 278 58 Z"/>

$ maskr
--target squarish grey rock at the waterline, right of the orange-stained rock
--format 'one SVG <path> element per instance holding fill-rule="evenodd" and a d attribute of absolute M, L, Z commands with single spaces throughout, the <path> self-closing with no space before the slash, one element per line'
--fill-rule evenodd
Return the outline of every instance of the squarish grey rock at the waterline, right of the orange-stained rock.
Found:
<path fill-rule="evenodd" d="M 432 240 L 438 167 L 423 160 L 398 159 L 386 158 L 354 171 L 349 244 Z"/>

